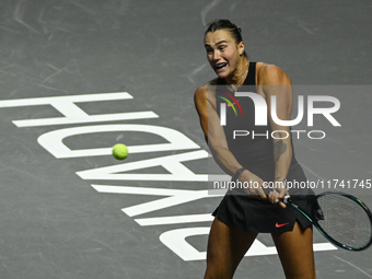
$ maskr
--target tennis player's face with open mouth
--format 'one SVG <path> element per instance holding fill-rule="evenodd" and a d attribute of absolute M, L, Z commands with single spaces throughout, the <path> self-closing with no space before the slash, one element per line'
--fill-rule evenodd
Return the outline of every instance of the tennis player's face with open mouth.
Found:
<path fill-rule="evenodd" d="M 222 79 L 231 77 L 244 51 L 244 43 L 236 45 L 226 30 L 209 32 L 205 37 L 207 58 L 214 72 Z"/>

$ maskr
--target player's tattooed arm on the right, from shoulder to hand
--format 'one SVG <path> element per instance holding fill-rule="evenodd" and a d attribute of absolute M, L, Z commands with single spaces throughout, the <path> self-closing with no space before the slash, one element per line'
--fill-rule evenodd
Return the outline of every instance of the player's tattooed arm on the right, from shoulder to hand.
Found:
<path fill-rule="evenodd" d="M 269 199 L 281 200 L 287 195 L 284 181 L 292 160 L 291 132 L 289 126 L 281 126 L 274 121 L 271 115 L 272 96 L 276 96 L 276 115 L 280 120 L 290 120 L 293 105 L 291 81 L 286 72 L 275 65 L 264 65 L 259 70 L 259 89 L 264 93 L 268 107 L 268 119 L 271 127 L 275 185 L 279 194 L 269 195 Z M 282 207 L 284 204 L 280 202 Z"/>

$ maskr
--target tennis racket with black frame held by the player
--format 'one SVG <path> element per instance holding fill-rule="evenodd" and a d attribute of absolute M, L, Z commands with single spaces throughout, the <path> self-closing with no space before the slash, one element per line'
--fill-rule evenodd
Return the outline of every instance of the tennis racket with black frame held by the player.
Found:
<path fill-rule="evenodd" d="M 295 205 L 297 200 L 311 202 L 311 212 Z M 358 198 L 338 191 L 326 191 L 316 196 L 290 197 L 283 202 L 290 205 L 333 244 L 349 251 L 362 251 L 372 243 L 372 214 Z"/>

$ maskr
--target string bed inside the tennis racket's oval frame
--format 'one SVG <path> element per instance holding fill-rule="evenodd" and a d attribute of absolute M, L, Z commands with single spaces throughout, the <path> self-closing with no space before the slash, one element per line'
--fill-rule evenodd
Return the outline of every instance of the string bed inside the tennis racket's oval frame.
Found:
<path fill-rule="evenodd" d="M 353 248 L 369 244 L 371 220 L 357 201 L 341 195 L 324 195 L 317 202 L 313 216 L 332 239 Z"/>

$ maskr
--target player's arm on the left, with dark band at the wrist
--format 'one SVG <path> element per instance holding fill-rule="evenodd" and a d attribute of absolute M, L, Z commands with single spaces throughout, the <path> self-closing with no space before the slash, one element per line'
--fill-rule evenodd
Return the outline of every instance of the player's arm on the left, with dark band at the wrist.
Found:
<path fill-rule="evenodd" d="M 198 112 L 201 129 L 205 133 L 209 149 L 219 166 L 229 175 L 234 175 L 237 170 L 243 167 L 229 150 L 224 130 L 220 125 L 220 117 L 217 113 L 216 92 L 210 90 L 210 83 L 200 86 L 194 95 L 196 111 Z M 257 182 L 263 185 L 264 181 L 249 171 L 244 171 L 239 179 L 241 182 Z M 249 194 L 266 198 L 263 189 L 251 189 Z"/>

